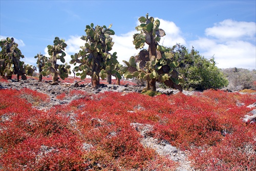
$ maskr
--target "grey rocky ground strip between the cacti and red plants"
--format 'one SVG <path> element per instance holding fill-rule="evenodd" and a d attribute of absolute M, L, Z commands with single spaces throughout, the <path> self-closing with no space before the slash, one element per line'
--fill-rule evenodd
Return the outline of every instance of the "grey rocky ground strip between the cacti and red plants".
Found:
<path fill-rule="evenodd" d="M 134 86 L 127 83 L 126 85 L 118 86 L 116 84 L 101 84 L 99 89 L 94 90 L 91 87 L 91 83 L 83 83 L 82 81 L 74 81 L 73 83 L 65 82 L 65 81 L 58 81 L 52 82 L 50 81 L 41 81 L 39 82 L 37 79 L 29 78 L 27 80 L 20 80 L 17 82 L 16 79 L 8 80 L 8 82 L 0 82 L 0 89 L 16 89 L 20 90 L 23 88 L 28 88 L 31 90 L 35 90 L 40 93 L 48 94 L 50 97 L 50 103 L 41 104 L 38 108 L 51 108 L 53 105 L 58 104 L 66 104 L 72 100 L 81 98 L 77 95 L 73 96 L 70 99 L 59 100 L 56 98 L 57 95 L 62 93 L 67 93 L 72 90 L 79 90 L 85 91 L 89 94 L 97 94 L 97 93 L 104 93 L 104 92 L 123 92 L 123 93 L 130 93 L 130 92 L 142 92 L 144 87 Z M 179 93 L 179 90 L 172 90 L 172 89 L 157 89 L 158 92 L 162 94 L 176 94 Z M 194 92 L 183 91 L 184 94 L 191 95 Z"/>

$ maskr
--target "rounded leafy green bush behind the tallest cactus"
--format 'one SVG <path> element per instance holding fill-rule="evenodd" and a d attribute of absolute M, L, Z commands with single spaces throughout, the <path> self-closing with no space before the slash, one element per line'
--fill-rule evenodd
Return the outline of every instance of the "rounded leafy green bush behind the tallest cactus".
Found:
<path fill-rule="evenodd" d="M 183 88 L 205 90 L 227 86 L 228 80 L 216 67 L 214 57 L 206 59 L 194 47 L 189 52 L 180 44 L 173 46 L 171 52 L 174 54 L 172 60 L 179 63 L 177 70 L 184 78 Z"/>

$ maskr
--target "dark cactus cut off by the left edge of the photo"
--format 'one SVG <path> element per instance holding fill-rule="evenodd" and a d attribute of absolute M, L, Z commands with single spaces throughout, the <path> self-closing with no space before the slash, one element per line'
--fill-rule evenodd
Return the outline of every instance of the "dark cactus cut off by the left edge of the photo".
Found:
<path fill-rule="evenodd" d="M 19 76 L 22 79 L 27 79 L 26 75 L 33 74 L 32 66 L 25 65 L 20 58 L 24 58 L 22 52 L 18 49 L 18 44 L 14 42 L 14 38 L 7 37 L 0 41 L 2 51 L 0 52 L 0 73 L 4 79 L 11 79 L 12 74 L 17 74 L 17 81 Z"/>

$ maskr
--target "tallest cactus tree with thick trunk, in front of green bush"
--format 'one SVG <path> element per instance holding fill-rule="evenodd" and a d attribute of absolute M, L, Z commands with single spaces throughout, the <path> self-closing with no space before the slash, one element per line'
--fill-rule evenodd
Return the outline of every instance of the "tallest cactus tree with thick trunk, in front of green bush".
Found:
<path fill-rule="evenodd" d="M 147 90 L 156 91 L 156 81 L 159 81 L 164 82 L 168 87 L 182 91 L 179 83 L 183 79 L 174 69 L 177 62 L 170 60 L 173 55 L 169 49 L 158 44 L 160 38 L 165 35 L 164 30 L 159 28 L 160 21 L 146 14 L 146 17 L 139 18 L 139 22 L 141 24 L 136 27 L 136 30 L 140 33 L 134 34 L 133 44 L 136 49 L 142 49 L 147 44 L 148 49 L 141 50 L 135 57 L 132 56 L 129 62 L 123 61 L 126 67 L 120 70 L 124 77 L 144 78 L 147 82 Z"/>

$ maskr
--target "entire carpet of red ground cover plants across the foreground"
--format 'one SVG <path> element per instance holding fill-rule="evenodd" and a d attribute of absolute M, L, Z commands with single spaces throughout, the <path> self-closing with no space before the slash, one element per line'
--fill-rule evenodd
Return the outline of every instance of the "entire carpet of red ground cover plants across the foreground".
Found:
<path fill-rule="evenodd" d="M 246 107 L 256 101 L 253 94 L 72 91 L 63 98 L 80 98 L 39 111 L 20 93 L 0 90 L 3 170 L 175 170 L 177 162 L 143 147 L 134 122 L 153 125 L 148 135 L 159 142 L 187 149 L 199 170 L 256 169 L 256 125 L 242 120 L 253 110 Z"/>

